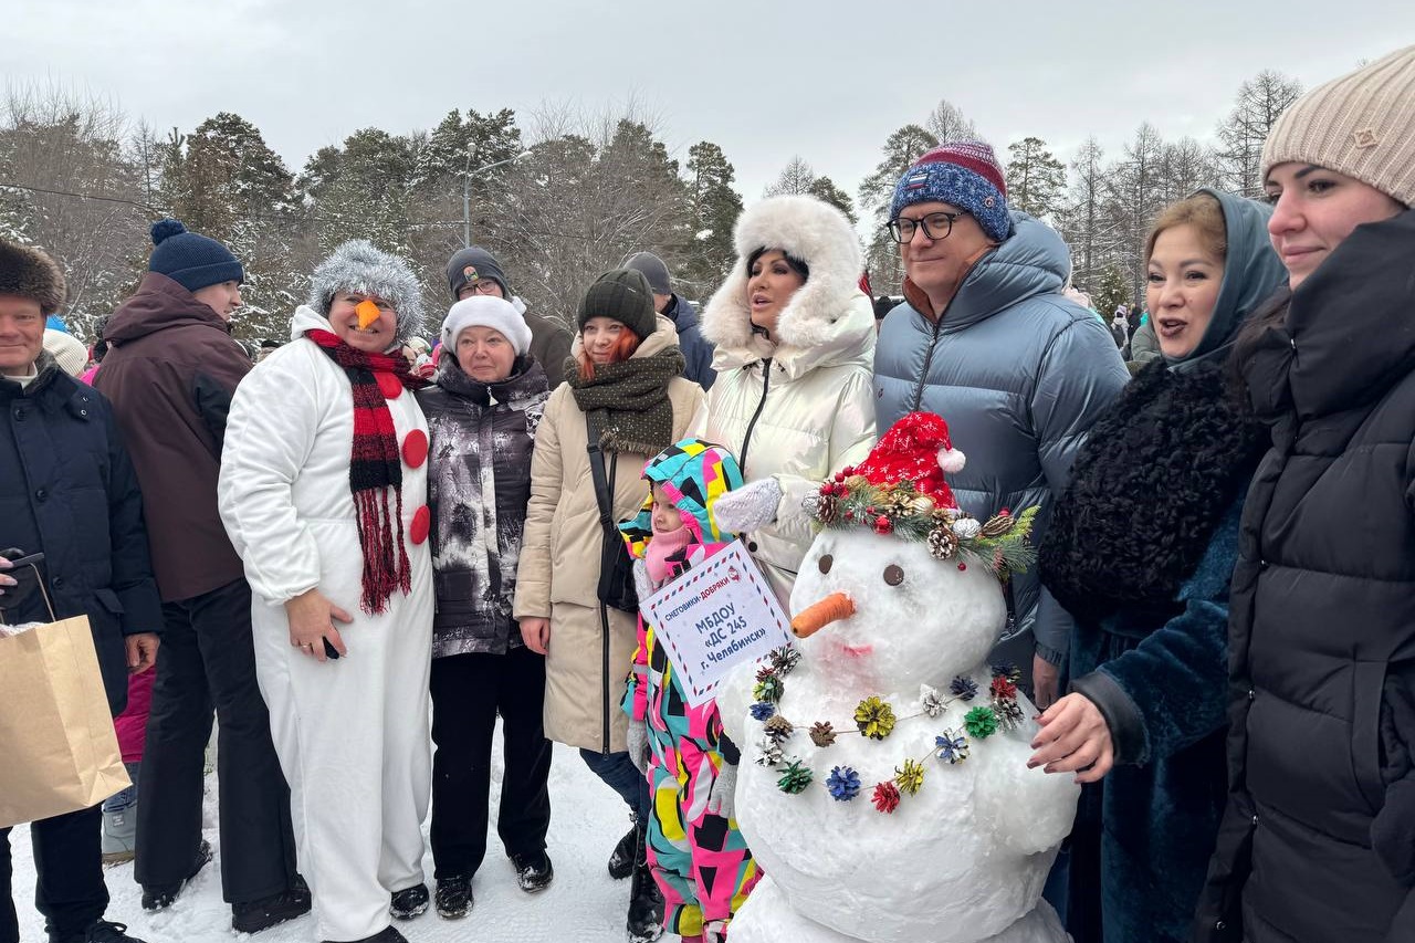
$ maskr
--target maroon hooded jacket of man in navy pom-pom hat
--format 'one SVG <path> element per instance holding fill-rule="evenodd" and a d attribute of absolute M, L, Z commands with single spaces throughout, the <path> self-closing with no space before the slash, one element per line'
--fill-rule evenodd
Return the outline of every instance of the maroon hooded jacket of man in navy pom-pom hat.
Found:
<path fill-rule="evenodd" d="M 226 323 L 156 272 L 109 319 L 109 353 L 93 385 L 113 402 L 143 490 L 143 517 L 163 602 L 242 578 L 216 513 L 221 440 L 250 358 Z"/>

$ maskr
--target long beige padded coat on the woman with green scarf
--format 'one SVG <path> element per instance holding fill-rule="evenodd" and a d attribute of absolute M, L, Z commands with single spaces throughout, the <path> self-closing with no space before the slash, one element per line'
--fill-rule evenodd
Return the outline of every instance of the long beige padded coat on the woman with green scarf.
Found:
<path fill-rule="evenodd" d="M 674 323 L 658 316 L 634 357 L 649 357 L 678 345 Z M 579 353 L 576 338 L 572 353 Z M 674 442 L 703 405 L 698 384 L 675 377 L 668 384 L 674 405 Z M 624 682 L 634 661 L 634 616 L 608 610 L 608 663 L 603 671 L 604 633 L 600 629 L 599 581 L 600 510 L 590 479 L 584 413 L 569 384 L 550 394 L 536 429 L 531 460 L 531 505 L 516 569 L 515 617 L 550 619 L 550 650 L 545 663 L 545 735 L 559 743 L 597 752 L 625 749 L 628 718 L 620 709 Z M 644 463 L 652 456 L 606 456 L 614 473 L 614 520 L 638 513 L 648 494 Z"/>

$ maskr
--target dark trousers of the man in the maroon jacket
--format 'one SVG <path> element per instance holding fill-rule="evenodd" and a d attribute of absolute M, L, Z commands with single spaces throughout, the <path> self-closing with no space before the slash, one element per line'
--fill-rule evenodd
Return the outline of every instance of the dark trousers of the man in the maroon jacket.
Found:
<path fill-rule="evenodd" d="M 256 684 L 250 586 L 243 579 L 163 603 L 147 746 L 137 784 L 143 886 L 178 884 L 201 842 L 202 767 L 218 719 L 221 889 L 231 903 L 287 889 L 296 874 L 290 790 Z"/>

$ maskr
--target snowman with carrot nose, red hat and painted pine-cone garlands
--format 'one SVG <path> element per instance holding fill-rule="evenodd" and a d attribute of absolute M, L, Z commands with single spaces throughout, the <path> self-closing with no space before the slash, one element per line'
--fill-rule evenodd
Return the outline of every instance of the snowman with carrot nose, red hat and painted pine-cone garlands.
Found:
<path fill-rule="evenodd" d="M 733 943 L 1070 939 L 1040 898 L 1080 789 L 1027 769 L 1036 711 L 988 664 L 1034 510 L 962 514 L 961 467 L 944 421 L 911 413 L 826 481 L 798 640 L 719 690 L 766 872 Z"/>

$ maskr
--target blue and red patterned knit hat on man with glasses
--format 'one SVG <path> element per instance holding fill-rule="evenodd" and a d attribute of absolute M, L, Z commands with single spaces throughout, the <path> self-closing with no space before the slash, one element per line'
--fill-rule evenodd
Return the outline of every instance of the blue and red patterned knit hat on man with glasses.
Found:
<path fill-rule="evenodd" d="M 993 242 L 1012 235 L 1007 181 L 992 147 L 981 140 L 940 144 L 916 160 L 894 184 L 890 219 L 904 207 L 934 201 L 966 210 Z"/>

